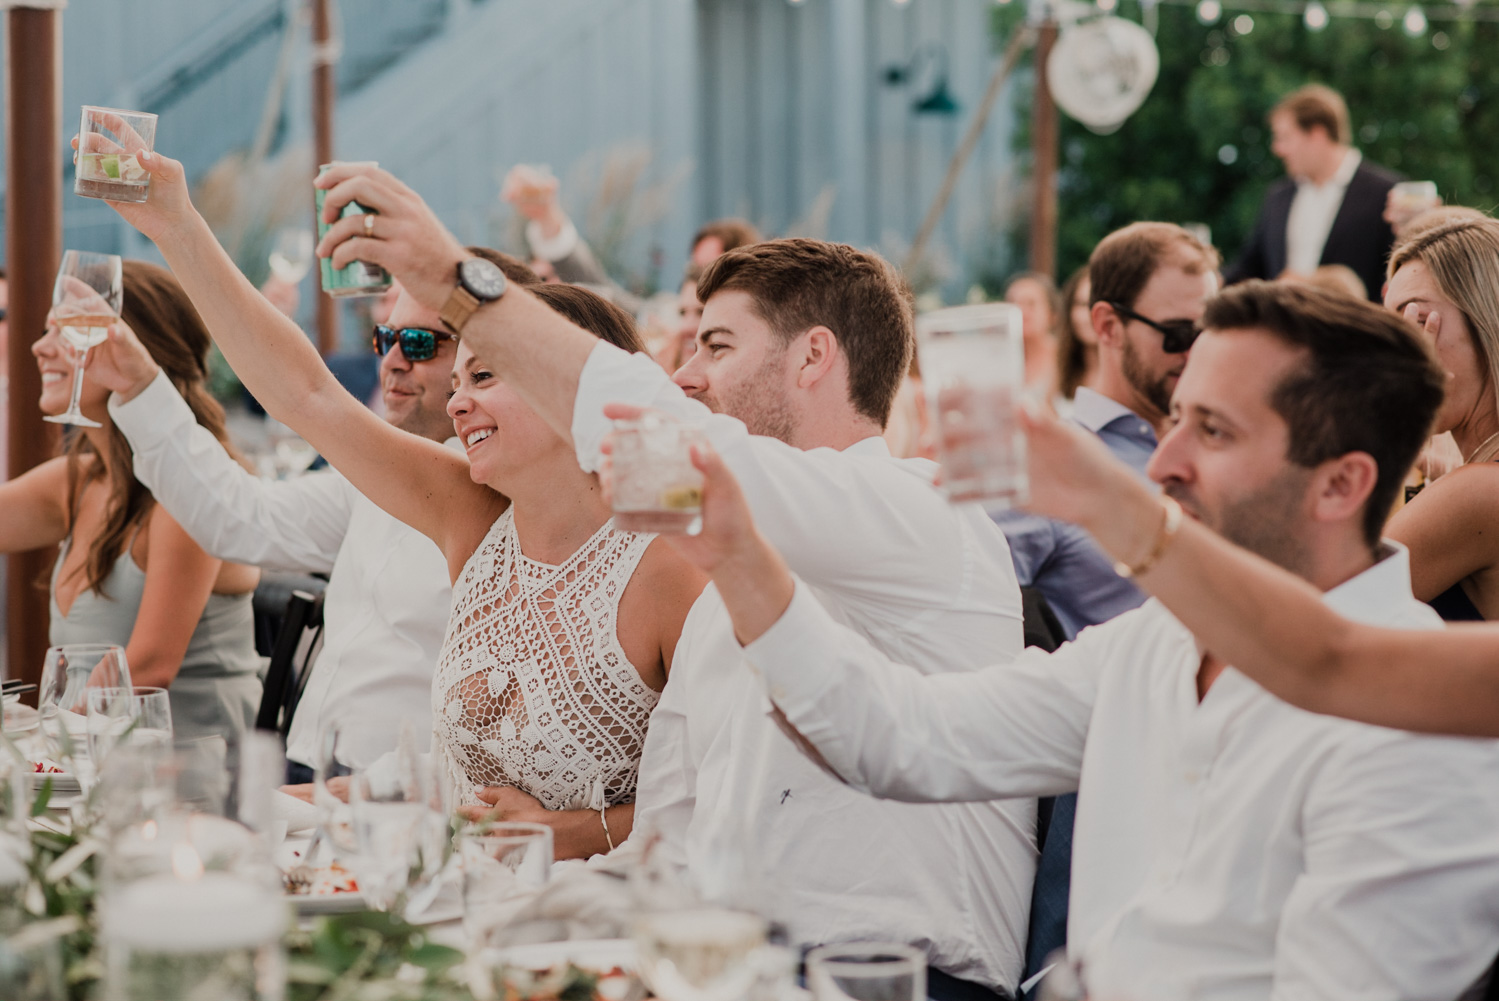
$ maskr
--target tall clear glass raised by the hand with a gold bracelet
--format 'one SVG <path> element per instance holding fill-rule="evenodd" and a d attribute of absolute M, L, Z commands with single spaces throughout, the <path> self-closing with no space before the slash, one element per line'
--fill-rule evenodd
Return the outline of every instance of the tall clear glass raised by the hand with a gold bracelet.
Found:
<path fill-rule="evenodd" d="M 1028 493 L 1025 433 L 1015 408 L 1025 388 L 1021 310 L 953 306 L 916 318 L 922 387 L 952 500 L 1019 503 Z"/>

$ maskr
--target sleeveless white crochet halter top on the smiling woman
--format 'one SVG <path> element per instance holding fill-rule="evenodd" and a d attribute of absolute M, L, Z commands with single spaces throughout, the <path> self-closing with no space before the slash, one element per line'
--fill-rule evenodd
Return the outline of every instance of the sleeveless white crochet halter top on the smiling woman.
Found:
<path fill-rule="evenodd" d="M 505 511 L 453 584 L 432 679 L 433 751 L 453 803 L 510 785 L 547 809 L 634 799 L 660 694 L 616 635 L 619 596 L 654 535 L 606 521 L 564 563 L 520 551 Z"/>

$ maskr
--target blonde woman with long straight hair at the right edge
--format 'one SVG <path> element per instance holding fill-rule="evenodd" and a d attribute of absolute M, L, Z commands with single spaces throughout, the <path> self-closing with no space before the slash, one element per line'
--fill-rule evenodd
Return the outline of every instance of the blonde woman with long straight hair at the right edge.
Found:
<path fill-rule="evenodd" d="M 1450 373 L 1435 433 L 1463 466 L 1391 520 L 1411 583 L 1447 620 L 1499 619 L 1499 222 L 1456 219 L 1390 255 L 1385 306 L 1421 327 Z"/>

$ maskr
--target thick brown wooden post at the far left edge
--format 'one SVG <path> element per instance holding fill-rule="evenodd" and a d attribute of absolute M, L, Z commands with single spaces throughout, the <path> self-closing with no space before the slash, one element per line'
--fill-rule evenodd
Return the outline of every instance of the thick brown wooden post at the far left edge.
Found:
<path fill-rule="evenodd" d="M 57 454 L 57 426 L 42 421 L 42 376 L 31 342 L 46 324 L 63 256 L 63 21 L 61 12 L 10 6 L 6 12 L 6 274 L 10 402 L 7 475 L 13 480 Z M 58 4 L 60 6 L 60 4 Z M 3 517 L 3 515 L 0 515 Z M 55 550 L 12 553 L 6 572 L 6 661 L 10 677 L 36 682 L 46 655 L 48 601 L 36 580 Z"/>

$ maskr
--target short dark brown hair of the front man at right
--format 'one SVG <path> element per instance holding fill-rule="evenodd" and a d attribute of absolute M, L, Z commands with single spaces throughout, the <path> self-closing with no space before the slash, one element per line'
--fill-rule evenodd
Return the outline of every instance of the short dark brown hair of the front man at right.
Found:
<path fill-rule="evenodd" d="M 1306 364 L 1270 394 L 1289 432 L 1286 459 L 1312 468 L 1349 453 L 1373 457 L 1379 475 L 1363 529 L 1375 548 L 1447 391 L 1447 373 L 1421 333 L 1367 300 L 1259 280 L 1210 300 L 1202 325 L 1259 330 L 1306 349 Z"/>

